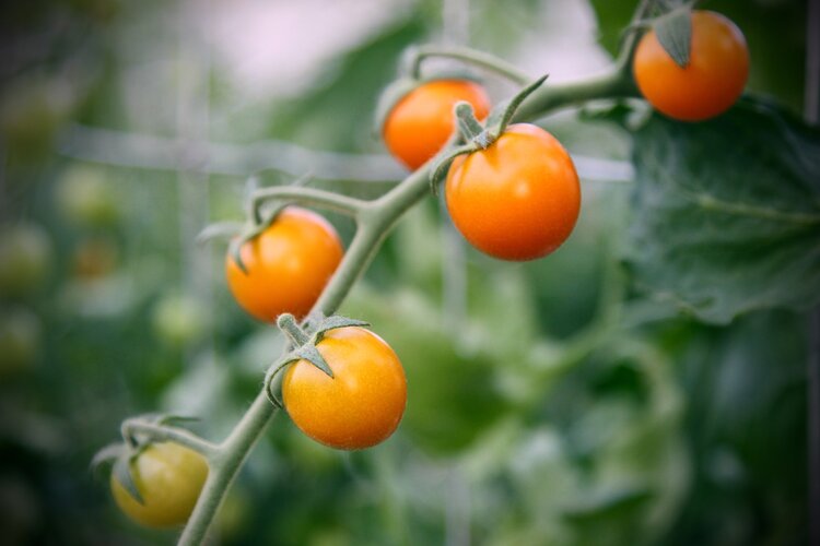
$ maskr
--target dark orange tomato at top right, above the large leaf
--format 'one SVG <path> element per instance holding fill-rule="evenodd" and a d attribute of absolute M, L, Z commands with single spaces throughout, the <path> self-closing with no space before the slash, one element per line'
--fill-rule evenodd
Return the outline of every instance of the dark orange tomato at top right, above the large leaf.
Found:
<path fill-rule="evenodd" d="M 633 73 L 641 94 L 657 110 L 681 121 L 700 121 L 727 110 L 749 76 L 749 49 L 740 29 L 711 11 L 692 12 L 692 46 L 680 68 L 646 33 L 637 45 Z"/>

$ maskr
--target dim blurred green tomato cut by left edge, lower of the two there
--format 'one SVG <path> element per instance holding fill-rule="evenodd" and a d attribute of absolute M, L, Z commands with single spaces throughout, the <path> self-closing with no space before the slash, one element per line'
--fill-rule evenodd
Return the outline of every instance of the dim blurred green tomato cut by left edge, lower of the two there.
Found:
<path fill-rule="evenodd" d="M 3 310 L 0 314 L 0 379 L 21 373 L 37 359 L 43 329 L 27 309 Z"/>

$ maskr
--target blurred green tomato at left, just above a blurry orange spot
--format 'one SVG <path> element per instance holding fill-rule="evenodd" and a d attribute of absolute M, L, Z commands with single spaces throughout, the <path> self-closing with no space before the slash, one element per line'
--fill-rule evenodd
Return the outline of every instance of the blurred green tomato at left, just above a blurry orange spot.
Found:
<path fill-rule="evenodd" d="M 102 167 L 74 165 L 67 169 L 56 199 L 66 219 L 80 227 L 112 227 L 121 217 L 117 194 Z"/>

